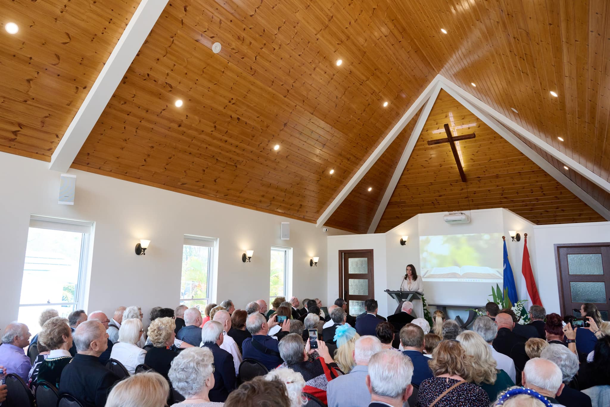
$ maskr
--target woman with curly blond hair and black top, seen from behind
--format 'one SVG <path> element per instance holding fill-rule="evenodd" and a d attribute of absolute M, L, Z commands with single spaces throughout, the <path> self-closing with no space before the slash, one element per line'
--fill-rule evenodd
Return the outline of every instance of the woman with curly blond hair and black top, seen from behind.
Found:
<path fill-rule="evenodd" d="M 148 326 L 148 339 L 152 343 L 152 348 L 146 351 L 144 363 L 166 379 L 171 361 L 178 356 L 178 353 L 169 349 L 176 339 L 174 328 L 176 328 L 176 324 L 170 317 L 157 318 Z"/>

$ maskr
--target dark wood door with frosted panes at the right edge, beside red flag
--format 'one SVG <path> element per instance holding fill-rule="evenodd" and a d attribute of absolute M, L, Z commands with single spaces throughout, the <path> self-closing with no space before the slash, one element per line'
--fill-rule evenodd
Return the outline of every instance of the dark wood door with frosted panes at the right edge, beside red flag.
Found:
<path fill-rule="evenodd" d="M 601 317 L 610 311 L 610 243 L 555 245 L 559 303 L 563 315 L 580 317 L 583 303 L 594 303 Z"/>

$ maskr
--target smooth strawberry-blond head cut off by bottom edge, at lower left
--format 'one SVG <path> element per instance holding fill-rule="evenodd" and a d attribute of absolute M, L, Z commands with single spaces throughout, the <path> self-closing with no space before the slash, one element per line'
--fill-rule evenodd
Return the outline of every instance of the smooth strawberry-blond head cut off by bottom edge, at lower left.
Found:
<path fill-rule="evenodd" d="M 138 373 L 112 387 L 106 407 L 161 407 L 169 394 L 170 386 L 159 373 Z"/>

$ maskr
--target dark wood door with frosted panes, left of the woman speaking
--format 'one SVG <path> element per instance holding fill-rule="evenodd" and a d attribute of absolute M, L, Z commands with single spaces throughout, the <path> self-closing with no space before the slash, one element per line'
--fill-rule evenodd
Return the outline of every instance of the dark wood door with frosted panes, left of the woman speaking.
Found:
<path fill-rule="evenodd" d="M 364 312 L 364 301 L 375 297 L 373 249 L 339 250 L 339 293 L 350 315 Z"/>

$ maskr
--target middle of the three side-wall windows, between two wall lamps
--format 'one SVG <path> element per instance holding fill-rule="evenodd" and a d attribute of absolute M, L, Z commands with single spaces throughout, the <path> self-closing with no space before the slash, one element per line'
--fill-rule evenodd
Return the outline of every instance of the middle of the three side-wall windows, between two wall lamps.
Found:
<path fill-rule="evenodd" d="M 180 303 L 203 312 L 210 301 L 214 248 L 217 239 L 184 236 Z"/>

